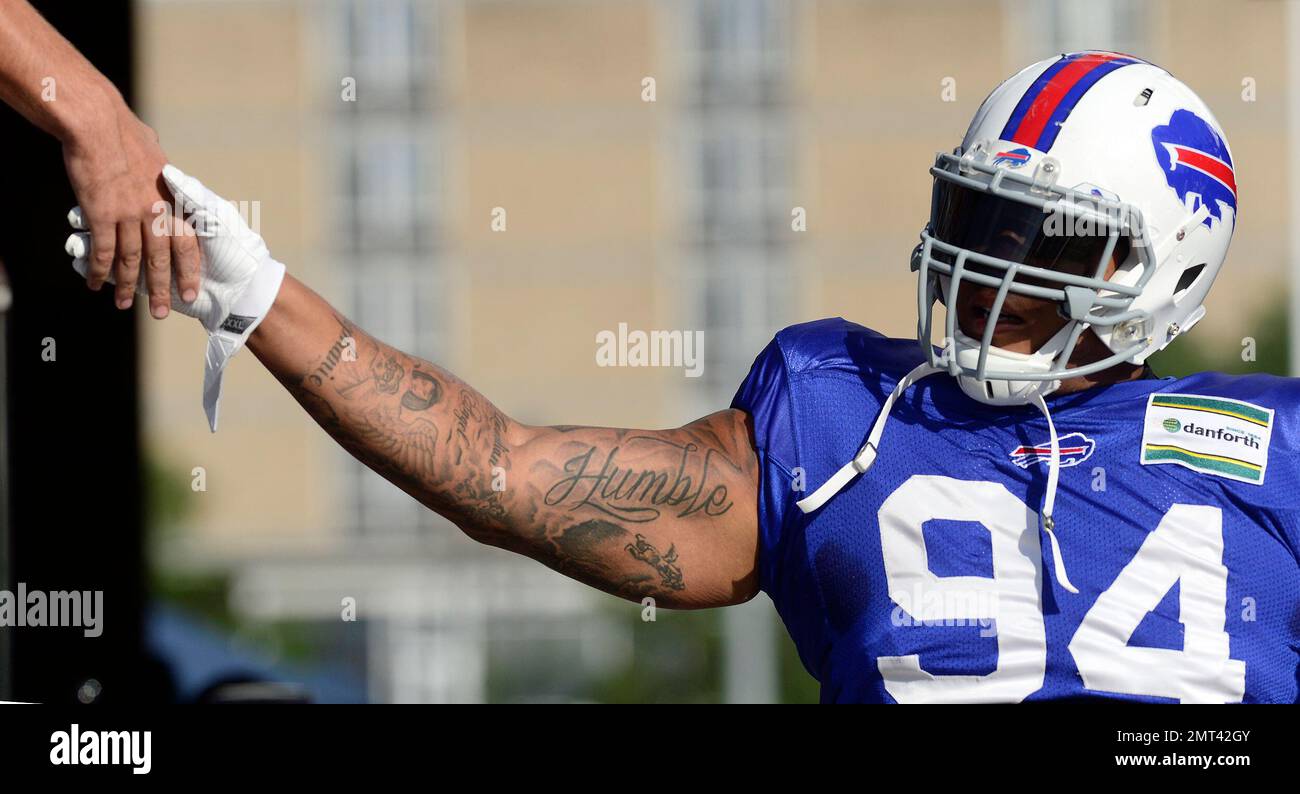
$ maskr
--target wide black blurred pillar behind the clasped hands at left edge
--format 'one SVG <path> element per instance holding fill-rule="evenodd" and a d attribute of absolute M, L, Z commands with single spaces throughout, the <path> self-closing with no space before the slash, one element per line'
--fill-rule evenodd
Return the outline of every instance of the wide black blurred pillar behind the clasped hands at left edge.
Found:
<path fill-rule="evenodd" d="M 130 101 L 130 4 L 34 5 Z M 0 628 L 10 643 L 9 699 L 139 702 L 155 691 L 157 671 L 143 652 L 134 312 L 113 308 L 110 290 L 90 292 L 62 252 L 74 198 L 58 143 L 0 108 L 0 260 L 13 286 L 4 368 L 6 585 L 103 593 L 100 637 L 83 628 Z"/>

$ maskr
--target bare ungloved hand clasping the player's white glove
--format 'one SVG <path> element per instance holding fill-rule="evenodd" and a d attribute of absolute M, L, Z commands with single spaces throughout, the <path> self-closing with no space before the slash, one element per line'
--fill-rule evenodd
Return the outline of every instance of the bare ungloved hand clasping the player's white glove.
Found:
<path fill-rule="evenodd" d="M 91 233 L 87 286 L 116 283 L 114 300 L 125 309 L 139 283 L 157 318 L 166 317 L 169 305 L 181 308 L 173 295 L 195 300 L 199 247 L 172 212 L 172 192 L 162 181 L 166 156 L 153 130 L 124 107 L 98 133 L 65 142 L 64 164 Z"/>

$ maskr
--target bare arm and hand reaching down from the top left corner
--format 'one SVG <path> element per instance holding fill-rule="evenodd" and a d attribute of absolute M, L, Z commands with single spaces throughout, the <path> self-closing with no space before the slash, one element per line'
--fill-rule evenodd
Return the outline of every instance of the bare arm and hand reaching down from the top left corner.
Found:
<path fill-rule="evenodd" d="M 122 95 L 26 0 L 0 0 L 0 101 L 64 144 L 68 178 L 94 233 L 87 283 L 113 274 L 118 308 L 142 277 L 150 308 L 165 317 L 172 275 L 187 303 L 199 288 L 199 250 L 179 221 L 157 212 L 172 195 L 160 181 L 157 135 Z"/>

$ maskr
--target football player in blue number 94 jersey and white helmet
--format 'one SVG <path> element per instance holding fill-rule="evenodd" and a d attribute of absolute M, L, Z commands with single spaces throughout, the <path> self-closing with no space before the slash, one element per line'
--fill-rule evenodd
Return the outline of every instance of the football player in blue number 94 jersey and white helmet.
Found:
<path fill-rule="evenodd" d="M 915 339 L 785 329 L 731 408 L 671 430 L 512 420 L 169 166 L 205 257 L 176 308 L 211 334 L 213 428 L 247 344 L 471 538 L 667 607 L 767 593 L 823 700 L 1295 702 L 1300 389 L 1145 364 L 1205 314 L 1236 222 L 1209 108 L 1136 57 L 1063 55 L 931 175 Z"/>

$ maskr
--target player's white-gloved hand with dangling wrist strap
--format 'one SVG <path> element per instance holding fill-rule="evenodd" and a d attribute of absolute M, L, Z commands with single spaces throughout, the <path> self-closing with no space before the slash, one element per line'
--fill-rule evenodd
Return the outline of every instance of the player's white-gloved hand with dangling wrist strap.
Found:
<path fill-rule="evenodd" d="M 203 408 L 208 424 L 217 430 L 217 405 L 221 400 L 221 376 L 226 364 L 252 335 L 276 303 L 285 265 L 270 256 L 265 240 L 239 216 L 230 201 L 208 190 L 194 177 L 174 165 L 162 168 L 166 186 L 176 194 L 181 212 L 194 226 L 190 239 L 203 250 L 203 269 L 198 295 L 185 301 L 170 287 L 170 304 L 176 311 L 195 317 L 208 330 L 208 351 L 203 370 Z M 73 229 L 83 230 L 87 221 L 81 207 L 68 213 Z M 196 235 L 192 237 L 192 235 Z M 95 231 L 78 231 L 68 238 L 65 248 L 73 256 L 73 268 L 87 281 L 94 277 L 92 256 Z M 113 275 L 108 274 L 108 281 Z M 118 285 L 121 288 L 121 285 Z M 150 285 L 152 301 L 152 285 Z M 136 290 L 143 292 L 144 285 Z"/>

